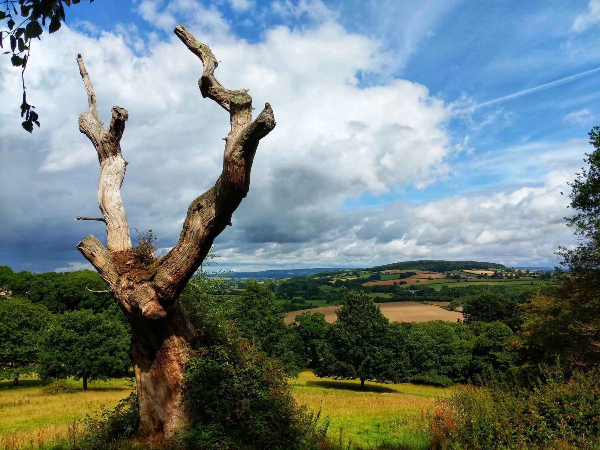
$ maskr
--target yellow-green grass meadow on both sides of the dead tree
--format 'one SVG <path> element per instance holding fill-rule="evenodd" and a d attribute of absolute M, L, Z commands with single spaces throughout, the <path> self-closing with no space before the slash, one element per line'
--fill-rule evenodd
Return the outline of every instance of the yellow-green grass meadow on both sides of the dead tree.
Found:
<path fill-rule="evenodd" d="M 81 387 L 81 382 L 70 381 Z M 130 392 L 127 380 L 89 383 L 87 392 L 44 395 L 46 383 L 38 379 L 0 382 L 0 450 L 52 448 L 82 436 L 85 413 L 113 407 Z M 321 409 L 330 421 L 329 435 L 337 448 L 377 448 L 382 442 L 398 448 L 428 448 L 427 412 L 437 398 L 448 397 L 452 388 L 406 384 L 365 383 L 318 378 L 303 371 L 292 380 L 299 404 Z M 341 436 L 341 438 L 340 438 Z"/>

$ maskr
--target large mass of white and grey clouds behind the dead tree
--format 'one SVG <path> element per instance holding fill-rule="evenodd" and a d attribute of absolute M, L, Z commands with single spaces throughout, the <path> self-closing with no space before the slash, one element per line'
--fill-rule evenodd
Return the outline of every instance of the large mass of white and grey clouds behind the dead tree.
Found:
<path fill-rule="evenodd" d="M 290 14 L 328 14 L 315 12 L 320 2 L 280 4 L 296 8 Z M 262 40 L 248 43 L 230 33 L 217 10 L 192 0 L 142 0 L 139 10 L 165 29 L 184 13 L 185 25 L 221 61 L 221 83 L 250 88 L 257 110 L 266 101 L 274 108 L 277 127 L 260 143 L 250 193 L 233 227 L 217 239 L 219 263 L 368 266 L 421 257 L 518 265 L 546 262 L 557 244 L 568 243 L 559 191 L 569 179 L 564 159 L 580 159 L 581 142 L 493 149 L 467 162 L 453 160 L 471 152 L 469 140 L 453 142 L 447 130 L 452 108 L 426 86 L 403 79 L 359 84 L 357 74 L 391 64 L 379 40 L 326 20 L 267 29 Z M 73 221 L 97 214 L 98 178 L 94 149 L 77 129 L 79 113 L 88 109 L 77 53 L 104 121 L 114 105 L 130 113 L 122 140 L 130 163 L 122 194 L 131 227 L 152 229 L 168 248 L 190 201 L 214 183 L 229 118 L 201 97 L 196 80 L 202 64 L 171 34 L 151 45 L 140 38 L 146 42 L 141 55 L 137 37 L 125 41 L 122 29 L 92 38 L 64 27 L 35 43 L 28 95 L 41 128 L 30 137 L 13 110 L 0 111 L 0 209 L 7 217 L 3 231 L 16 242 L 8 245 L 31 245 L 30 252 L 62 253 L 71 261 L 77 260 L 79 239 L 104 234 L 102 224 Z M 0 59 L 0 98 L 19 104 L 19 72 L 8 64 Z M 349 199 L 422 189 L 457 174 L 510 176 L 520 185 L 418 204 L 344 206 Z M 52 245 L 40 247 L 31 236 Z M 68 264 L 59 269 L 75 267 Z"/>

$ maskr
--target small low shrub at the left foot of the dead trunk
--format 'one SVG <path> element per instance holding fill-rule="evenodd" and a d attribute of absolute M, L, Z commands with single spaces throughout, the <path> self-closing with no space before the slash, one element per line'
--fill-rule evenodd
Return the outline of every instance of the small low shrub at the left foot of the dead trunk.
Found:
<path fill-rule="evenodd" d="M 83 419 L 84 440 L 91 444 L 92 448 L 100 448 L 116 439 L 133 436 L 137 431 L 139 421 L 137 395 L 135 391 L 132 391 L 128 397 L 119 400 L 114 409 L 107 409 L 101 405 L 100 413 L 94 416 L 85 415 Z"/>

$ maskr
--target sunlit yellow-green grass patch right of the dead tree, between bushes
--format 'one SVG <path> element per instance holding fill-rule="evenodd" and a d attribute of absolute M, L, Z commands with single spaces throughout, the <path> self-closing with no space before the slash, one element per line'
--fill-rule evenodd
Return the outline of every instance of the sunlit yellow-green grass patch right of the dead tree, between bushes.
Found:
<path fill-rule="evenodd" d="M 429 448 L 427 411 L 437 398 L 452 392 L 452 388 L 370 382 L 361 391 L 358 380 L 317 378 L 311 371 L 302 371 L 293 386 L 299 404 L 320 408 L 321 416 L 329 417 L 329 436 L 336 446 L 341 428 L 342 448 L 349 447 L 350 439 L 350 448 L 377 448 L 382 442 L 398 448 Z"/>

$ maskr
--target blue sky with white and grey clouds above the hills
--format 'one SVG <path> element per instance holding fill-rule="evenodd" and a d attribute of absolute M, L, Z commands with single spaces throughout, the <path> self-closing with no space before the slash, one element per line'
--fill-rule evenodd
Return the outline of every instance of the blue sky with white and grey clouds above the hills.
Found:
<path fill-rule="evenodd" d="M 122 198 L 132 238 L 161 252 L 221 170 L 229 118 L 197 87 L 209 44 L 229 89 L 277 127 L 250 193 L 216 239 L 220 268 L 368 267 L 413 259 L 554 266 L 572 244 L 568 182 L 600 124 L 600 0 L 523 2 L 95 0 L 35 41 L 20 127 L 20 71 L 0 55 L 0 265 L 91 268 L 98 160 L 82 53 L 107 123 L 128 110 Z"/>

